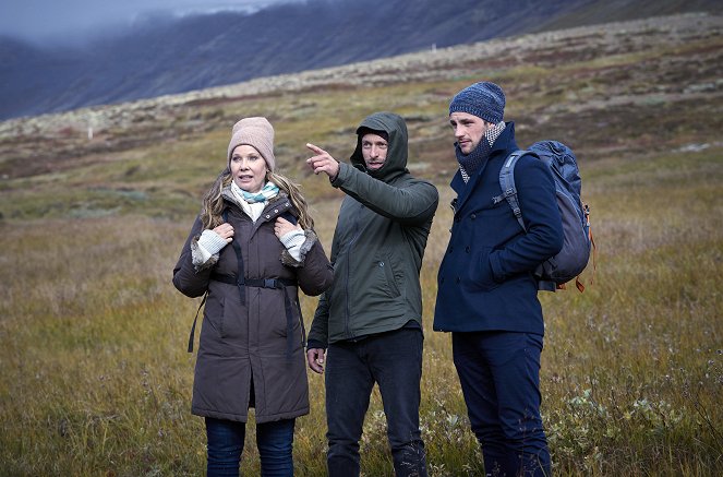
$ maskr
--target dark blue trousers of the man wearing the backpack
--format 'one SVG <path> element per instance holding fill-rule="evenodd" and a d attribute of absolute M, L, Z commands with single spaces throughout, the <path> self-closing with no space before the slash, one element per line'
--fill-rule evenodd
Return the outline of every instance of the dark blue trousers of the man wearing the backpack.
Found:
<path fill-rule="evenodd" d="M 485 474 L 550 475 L 550 452 L 540 417 L 542 336 L 453 333 L 451 343 Z"/>

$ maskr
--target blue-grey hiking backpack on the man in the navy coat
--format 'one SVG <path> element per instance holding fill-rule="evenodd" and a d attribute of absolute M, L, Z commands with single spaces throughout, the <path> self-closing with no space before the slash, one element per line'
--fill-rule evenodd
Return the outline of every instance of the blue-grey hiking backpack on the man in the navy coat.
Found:
<path fill-rule="evenodd" d="M 580 283 L 579 275 L 588 266 L 594 241 L 590 230 L 590 207 L 580 199 L 580 170 L 573 151 L 557 141 L 540 141 L 527 151 L 515 151 L 499 171 L 503 193 L 494 198 L 494 202 L 506 199 L 522 230 L 527 231 L 515 187 L 515 164 L 526 154 L 538 157 L 550 167 L 555 181 L 557 207 L 563 217 L 563 249 L 535 270 L 538 288 L 555 291 L 565 288 L 567 282 L 575 279 L 577 288 L 582 291 L 585 286 Z"/>

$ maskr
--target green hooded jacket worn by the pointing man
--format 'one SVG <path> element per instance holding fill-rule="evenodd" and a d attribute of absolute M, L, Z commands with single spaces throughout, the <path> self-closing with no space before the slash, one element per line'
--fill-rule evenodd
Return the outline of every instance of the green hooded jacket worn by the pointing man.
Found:
<path fill-rule="evenodd" d="M 365 128 L 388 134 L 387 156 L 367 170 L 361 148 Z M 309 333 L 311 348 L 422 324 L 419 274 L 439 195 L 407 169 L 407 126 L 375 112 L 357 129 L 351 165 L 340 163 L 332 186 L 347 196 L 332 241 L 334 285 L 320 298 Z"/>

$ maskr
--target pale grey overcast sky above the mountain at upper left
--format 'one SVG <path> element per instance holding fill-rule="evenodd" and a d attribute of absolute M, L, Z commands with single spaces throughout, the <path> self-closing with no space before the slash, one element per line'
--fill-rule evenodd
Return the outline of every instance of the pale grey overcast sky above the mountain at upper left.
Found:
<path fill-rule="evenodd" d="M 257 9 L 302 0 L 0 0 L 0 35 L 44 40 L 97 33 L 150 12 Z"/>

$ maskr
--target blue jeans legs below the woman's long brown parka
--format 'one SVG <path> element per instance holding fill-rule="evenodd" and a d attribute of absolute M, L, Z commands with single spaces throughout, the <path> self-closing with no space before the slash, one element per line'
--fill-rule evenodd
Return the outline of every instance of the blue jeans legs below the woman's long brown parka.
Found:
<path fill-rule="evenodd" d="M 293 476 L 293 426 L 296 419 L 256 425 L 256 445 L 261 455 L 262 476 Z M 208 439 L 208 477 L 239 475 L 239 463 L 246 437 L 244 422 L 206 418 Z"/>

